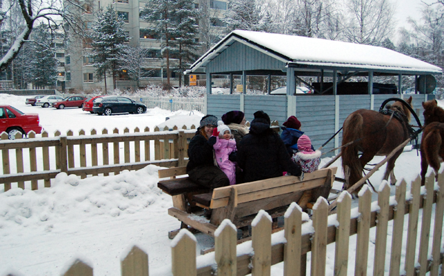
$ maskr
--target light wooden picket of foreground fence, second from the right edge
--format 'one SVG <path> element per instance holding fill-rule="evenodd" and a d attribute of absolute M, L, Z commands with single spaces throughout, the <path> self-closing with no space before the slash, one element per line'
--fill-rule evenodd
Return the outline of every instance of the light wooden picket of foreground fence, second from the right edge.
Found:
<path fill-rule="evenodd" d="M 432 207 L 433 207 L 433 191 L 435 183 L 435 173 L 429 175 L 425 180 L 425 189 L 427 190 L 427 196 L 425 196 L 425 204 L 422 208 L 422 223 L 421 223 L 421 236 L 419 241 L 419 258 L 420 265 L 419 275 L 425 275 L 427 273 L 427 255 L 429 254 L 429 236 L 430 236 L 430 224 L 432 221 Z"/>

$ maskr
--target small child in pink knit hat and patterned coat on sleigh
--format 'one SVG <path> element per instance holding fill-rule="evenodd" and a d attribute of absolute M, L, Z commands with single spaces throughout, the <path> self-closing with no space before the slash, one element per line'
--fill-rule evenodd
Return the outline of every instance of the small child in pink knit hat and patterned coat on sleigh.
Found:
<path fill-rule="evenodd" d="M 321 150 L 312 150 L 311 147 L 310 138 L 302 135 L 298 140 L 299 151 L 291 157 L 304 173 L 316 171 L 321 163 Z"/>

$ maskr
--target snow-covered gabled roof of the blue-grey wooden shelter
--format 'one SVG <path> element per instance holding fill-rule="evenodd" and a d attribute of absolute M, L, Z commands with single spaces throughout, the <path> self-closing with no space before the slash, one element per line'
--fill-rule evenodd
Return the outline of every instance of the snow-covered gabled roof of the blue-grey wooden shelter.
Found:
<path fill-rule="evenodd" d="M 295 62 L 296 64 L 367 69 L 409 69 L 410 71 L 442 74 L 440 67 L 384 47 L 297 35 L 240 30 L 232 31 L 224 37 L 223 40 L 194 62 L 191 65 L 191 70 L 195 71 L 198 67 L 205 66 L 206 62 L 212 60 L 212 55 L 220 53 L 220 48 L 226 48 L 227 45 L 234 42 L 232 40 L 258 46 L 264 52 L 274 52 L 287 59 L 287 62 Z"/>

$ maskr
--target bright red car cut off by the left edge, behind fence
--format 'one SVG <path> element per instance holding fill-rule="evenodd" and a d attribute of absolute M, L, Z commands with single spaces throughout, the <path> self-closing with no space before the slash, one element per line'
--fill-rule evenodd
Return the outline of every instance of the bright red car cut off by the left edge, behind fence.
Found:
<path fill-rule="evenodd" d="M 13 140 L 17 133 L 27 135 L 33 130 L 36 134 L 42 132 L 39 114 L 24 114 L 10 105 L 0 105 L 0 133 L 8 132 L 8 138 Z"/>

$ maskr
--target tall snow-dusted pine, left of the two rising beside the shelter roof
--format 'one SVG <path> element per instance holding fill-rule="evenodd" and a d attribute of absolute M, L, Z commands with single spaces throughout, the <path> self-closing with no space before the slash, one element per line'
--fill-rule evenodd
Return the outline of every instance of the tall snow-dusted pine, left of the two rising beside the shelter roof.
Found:
<path fill-rule="evenodd" d="M 142 11 L 144 19 L 150 24 L 147 31 L 162 41 L 162 53 L 167 62 L 167 89 L 171 88 L 170 58 L 171 52 L 175 51 L 173 40 L 178 26 L 175 19 L 177 3 L 177 0 L 151 0 Z"/>

